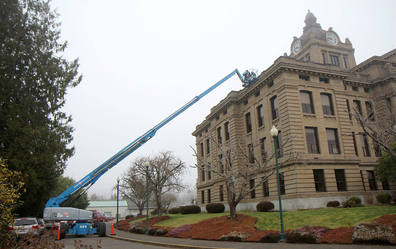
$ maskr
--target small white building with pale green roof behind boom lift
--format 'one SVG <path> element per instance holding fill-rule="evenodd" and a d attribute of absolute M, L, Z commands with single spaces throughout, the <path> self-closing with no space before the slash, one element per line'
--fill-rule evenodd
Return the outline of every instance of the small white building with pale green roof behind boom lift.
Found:
<path fill-rule="evenodd" d="M 89 201 L 87 210 L 97 210 L 101 213 L 109 213 L 112 217 L 116 218 L 117 213 L 117 200 L 100 200 Z M 126 200 L 118 200 L 118 219 L 123 219 L 125 213 L 128 213 L 128 204 Z"/>

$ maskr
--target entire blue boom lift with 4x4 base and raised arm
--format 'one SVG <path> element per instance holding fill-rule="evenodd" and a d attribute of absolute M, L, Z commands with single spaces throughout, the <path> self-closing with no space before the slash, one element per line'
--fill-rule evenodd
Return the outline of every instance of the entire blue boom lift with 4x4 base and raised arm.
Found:
<path fill-rule="evenodd" d="M 248 72 L 248 73 L 247 73 Z M 93 223 L 92 222 L 92 212 L 77 209 L 74 207 L 61 207 L 59 206 L 62 202 L 69 199 L 74 193 L 84 189 L 69 206 L 75 202 L 78 197 L 80 197 L 84 192 L 88 190 L 89 187 L 95 183 L 99 177 L 105 174 L 108 170 L 114 167 L 118 162 L 121 162 L 125 157 L 131 154 L 133 151 L 137 150 L 140 146 L 146 143 L 150 138 L 152 138 L 158 129 L 167 124 L 169 121 L 174 119 L 177 115 L 185 111 L 187 108 L 195 104 L 198 100 L 204 97 L 206 94 L 211 92 L 213 89 L 221 85 L 224 81 L 229 79 L 232 75 L 237 74 L 242 81 L 243 87 L 249 87 L 257 79 L 257 70 L 251 69 L 246 70 L 243 77 L 239 73 L 238 69 L 235 69 L 226 77 L 221 79 L 219 82 L 215 83 L 213 86 L 209 87 L 206 91 L 202 92 L 200 95 L 195 96 L 190 102 L 182 106 L 180 109 L 175 111 L 172 115 L 161 121 L 159 124 L 148 130 L 145 134 L 137 138 L 135 141 L 127 145 L 124 149 L 118 151 L 114 156 L 110 157 L 106 162 L 101 164 L 91 173 L 83 177 L 80 181 L 74 184 L 72 187 L 67 189 L 65 192 L 59 194 L 55 198 L 48 200 L 46 207 L 44 208 L 43 219 L 44 221 L 71 221 L 71 225 L 68 226 L 66 223 L 60 222 L 60 238 L 65 238 L 66 234 L 99 234 L 99 237 L 106 236 L 106 225 L 105 223 Z M 73 223 L 74 221 L 74 223 Z"/>

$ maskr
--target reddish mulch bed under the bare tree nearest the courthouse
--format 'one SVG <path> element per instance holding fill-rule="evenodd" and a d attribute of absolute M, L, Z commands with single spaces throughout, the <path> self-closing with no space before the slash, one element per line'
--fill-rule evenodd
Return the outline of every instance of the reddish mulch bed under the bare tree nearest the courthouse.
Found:
<path fill-rule="evenodd" d="M 228 215 L 224 215 L 191 224 L 192 228 L 190 230 L 173 237 L 193 240 L 218 240 L 220 236 L 232 231 L 247 232 L 253 235 L 259 232 L 254 227 L 256 222 L 257 218 L 248 215 L 237 214 L 233 220 L 230 220 Z"/>

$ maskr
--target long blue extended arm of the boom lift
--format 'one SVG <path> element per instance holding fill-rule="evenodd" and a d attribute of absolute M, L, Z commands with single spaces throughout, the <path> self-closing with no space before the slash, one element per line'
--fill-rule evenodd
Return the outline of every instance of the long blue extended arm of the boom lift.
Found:
<path fill-rule="evenodd" d="M 256 70 L 257 72 L 257 70 Z M 200 95 L 195 96 L 192 100 L 190 100 L 190 102 L 188 102 L 187 104 L 185 104 L 184 106 L 182 106 L 180 109 L 178 109 L 177 111 L 175 111 L 174 113 L 172 113 L 169 117 L 167 117 L 166 119 L 164 119 L 163 121 L 161 121 L 159 124 L 157 124 L 156 126 L 154 126 L 153 128 L 151 128 L 150 130 L 148 130 L 145 134 L 143 134 L 142 136 L 140 136 L 139 138 L 137 138 L 135 141 L 133 141 L 132 143 L 130 143 L 129 145 L 127 145 L 124 149 L 120 150 L 118 153 L 116 153 L 114 156 L 110 157 L 106 162 L 104 162 L 103 164 L 101 164 L 99 167 L 97 167 L 95 170 L 93 170 L 91 173 L 89 173 L 88 175 L 86 175 L 85 177 L 83 177 L 80 181 L 78 181 L 78 183 L 74 184 L 73 186 L 71 186 L 69 189 L 67 189 L 65 192 L 59 194 L 59 196 L 55 197 L 55 198 L 51 198 L 48 200 L 46 207 L 59 207 L 59 205 L 64 202 L 65 200 L 69 199 L 70 196 L 74 193 L 76 193 L 77 191 L 79 191 L 80 189 L 85 188 L 85 191 L 88 190 L 89 187 L 91 187 L 91 185 L 93 185 L 93 183 L 95 183 L 99 177 L 101 177 L 103 174 L 105 174 L 108 170 L 110 170 L 112 167 L 114 167 L 116 164 L 118 164 L 118 162 L 122 161 L 125 157 L 127 157 L 129 154 L 131 154 L 133 151 L 135 151 L 136 149 L 138 149 L 140 146 L 142 146 L 144 143 L 146 143 L 150 138 L 152 138 L 155 133 L 157 132 L 157 130 L 159 130 L 162 126 L 164 126 L 165 124 L 167 124 L 169 121 L 171 121 L 172 119 L 174 119 L 175 117 L 177 117 L 177 115 L 179 115 L 180 113 L 182 113 L 183 111 L 185 111 L 187 108 L 189 108 L 190 106 L 192 106 L 193 104 L 195 104 L 195 102 L 197 102 L 198 100 L 200 100 L 202 97 L 204 97 L 206 94 L 208 94 L 209 92 L 211 92 L 213 89 L 215 89 L 216 87 L 218 87 L 219 85 L 221 85 L 224 81 L 226 81 L 227 79 L 229 79 L 232 75 L 237 74 L 238 77 L 240 78 L 240 80 L 243 83 L 243 86 L 249 86 L 251 83 L 253 83 L 253 81 L 255 81 L 255 79 L 257 79 L 257 77 L 254 78 L 249 78 L 249 79 L 244 79 L 242 77 L 242 75 L 239 73 L 238 69 L 235 69 L 234 71 L 232 71 L 230 74 L 228 74 L 226 77 L 224 77 L 223 79 L 221 79 L 220 81 L 218 81 L 217 83 L 215 83 L 213 86 L 209 87 L 209 89 L 207 89 L 206 91 L 202 92 Z M 82 192 L 82 193 L 83 193 Z M 81 194 L 82 194 L 81 193 Z M 81 195 L 80 194 L 80 195 Z M 79 195 L 79 196 L 80 196 Z M 77 196 L 76 199 L 79 197 Z M 73 202 L 76 200 L 74 199 Z M 69 206 L 72 203 L 69 204 Z"/>

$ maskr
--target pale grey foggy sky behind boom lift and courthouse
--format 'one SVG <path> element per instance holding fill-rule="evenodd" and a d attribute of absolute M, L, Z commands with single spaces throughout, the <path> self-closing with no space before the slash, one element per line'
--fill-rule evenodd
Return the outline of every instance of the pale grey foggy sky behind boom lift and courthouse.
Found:
<path fill-rule="evenodd" d="M 80 58 L 80 85 L 63 108 L 73 117 L 75 155 L 64 175 L 77 181 L 228 75 L 266 70 L 293 36 L 307 10 L 341 42 L 349 38 L 356 63 L 395 48 L 394 1 L 99 1 L 53 0 L 61 15 L 64 57 Z M 196 163 L 191 133 L 210 108 L 240 90 L 235 75 L 160 129 L 89 190 L 110 195 L 116 178 L 137 155 L 174 150 Z M 185 180 L 195 184 L 190 170 Z"/>

